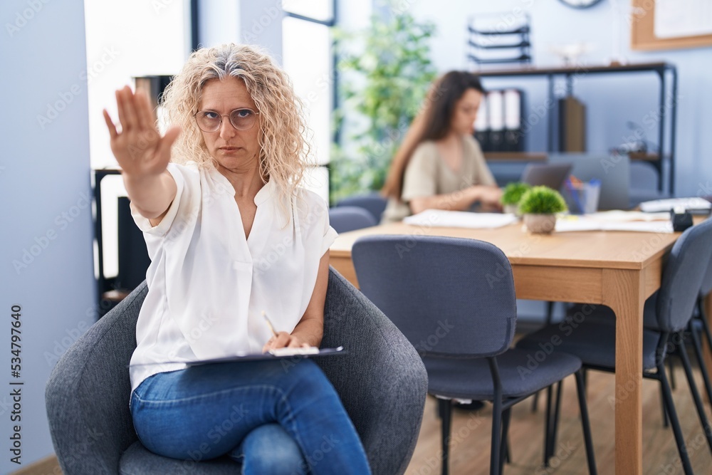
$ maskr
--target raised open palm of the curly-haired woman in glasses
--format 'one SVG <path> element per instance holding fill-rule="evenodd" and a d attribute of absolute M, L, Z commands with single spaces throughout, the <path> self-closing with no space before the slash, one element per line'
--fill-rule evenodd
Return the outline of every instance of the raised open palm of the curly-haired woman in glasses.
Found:
<path fill-rule="evenodd" d="M 111 151 L 122 171 L 134 177 L 161 174 L 171 159 L 171 145 L 180 128 L 171 127 L 161 137 L 147 95 L 133 93 L 128 86 L 116 91 L 116 103 L 121 131 L 117 131 L 106 110 L 104 120 L 111 136 Z"/>

